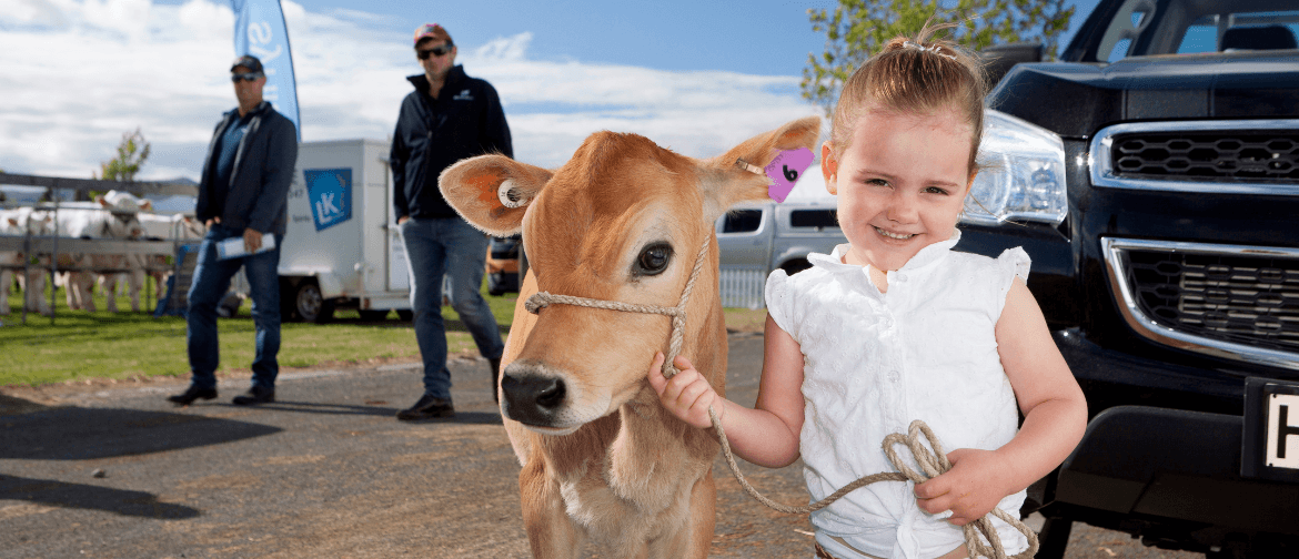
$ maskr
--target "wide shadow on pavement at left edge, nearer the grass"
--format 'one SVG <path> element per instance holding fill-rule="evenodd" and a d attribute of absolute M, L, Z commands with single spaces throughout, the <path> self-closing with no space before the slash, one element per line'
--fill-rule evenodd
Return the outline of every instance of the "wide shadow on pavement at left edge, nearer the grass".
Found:
<path fill-rule="evenodd" d="M 201 415 L 99 407 L 47 407 L 0 418 L 0 458 L 90 460 L 261 437 L 278 427 Z"/>

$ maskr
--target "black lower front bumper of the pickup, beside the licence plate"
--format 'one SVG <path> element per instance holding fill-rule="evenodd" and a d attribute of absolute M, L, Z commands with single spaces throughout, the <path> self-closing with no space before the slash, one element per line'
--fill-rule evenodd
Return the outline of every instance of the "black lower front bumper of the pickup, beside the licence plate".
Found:
<path fill-rule="evenodd" d="M 1052 507 L 1081 507 L 1090 524 L 1107 514 L 1169 521 L 1203 545 L 1229 533 L 1299 536 L 1299 484 L 1242 479 L 1241 438 L 1235 415 L 1111 407 L 1061 464 Z"/>

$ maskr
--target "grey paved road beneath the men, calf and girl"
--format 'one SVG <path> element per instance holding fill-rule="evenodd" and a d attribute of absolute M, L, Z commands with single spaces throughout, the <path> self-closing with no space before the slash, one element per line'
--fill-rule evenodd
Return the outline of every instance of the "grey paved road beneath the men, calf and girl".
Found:
<path fill-rule="evenodd" d="M 730 340 L 733 398 L 756 398 L 761 336 Z M 178 357 L 181 359 L 181 357 Z M 400 423 L 416 363 L 282 375 L 279 401 L 174 407 L 183 380 L 0 389 L 0 558 L 526 558 L 518 462 L 482 359 L 449 364 L 453 422 Z M 807 558 L 803 516 L 752 501 L 718 459 L 713 556 Z M 744 466 L 805 502 L 798 467 Z M 1160 553 L 1074 529 L 1070 559 Z"/>

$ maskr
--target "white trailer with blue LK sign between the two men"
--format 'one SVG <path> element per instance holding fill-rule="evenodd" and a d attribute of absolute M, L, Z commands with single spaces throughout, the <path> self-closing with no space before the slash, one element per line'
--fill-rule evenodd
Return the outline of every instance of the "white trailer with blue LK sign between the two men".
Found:
<path fill-rule="evenodd" d="M 326 322 L 339 307 L 369 320 L 391 310 L 409 318 L 410 280 L 387 160 L 383 140 L 299 145 L 279 256 L 286 320 Z"/>

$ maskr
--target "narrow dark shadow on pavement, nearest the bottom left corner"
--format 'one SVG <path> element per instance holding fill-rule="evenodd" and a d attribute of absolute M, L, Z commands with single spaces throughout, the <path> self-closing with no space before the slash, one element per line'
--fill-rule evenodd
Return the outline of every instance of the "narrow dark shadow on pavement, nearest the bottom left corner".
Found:
<path fill-rule="evenodd" d="M 0 499 L 27 501 L 62 508 L 88 508 L 123 516 L 192 519 L 201 512 L 183 505 L 162 503 L 144 492 L 69 484 L 66 481 L 0 476 Z"/>

